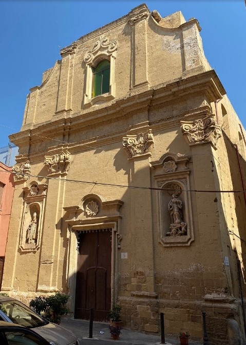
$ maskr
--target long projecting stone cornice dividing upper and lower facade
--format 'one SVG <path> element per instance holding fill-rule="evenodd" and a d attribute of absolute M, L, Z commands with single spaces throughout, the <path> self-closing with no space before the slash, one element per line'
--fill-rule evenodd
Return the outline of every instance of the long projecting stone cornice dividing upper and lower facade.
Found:
<path fill-rule="evenodd" d="M 166 106 L 168 102 L 178 102 L 178 98 L 180 96 L 191 97 L 191 95 L 194 93 L 204 93 L 209 97 L 211 102 L 214 102 L 214 100 L 221 98 L 225 91 L 215 71 L 211 70 L 199 75 L 176 80 L 170 84 L 161 84 L 151 90 L 139 93 L 137 95 L 118 99 L 109 104 L 108 107 L 102 106 L 97 107 L 95 110 L 82 110 L 79 113 L 71 114 L 69 118 L 47 121 L 41 125 L 32 124 L 31 128 L 25 128 L 25 126 L 23 126 L 23 129 L 25 128 L 25 130 L 10 135 L 10 140 L 15 145 L 23 147 L 27 145 L 27 137 L 29 137 L 30 134 L 31 144 L 40 141 L 41 137 L 43 137 L 42 139 L 44 141 L 47 140 L 48 144 L 49 138 L 53 138 L 54 133 L 55 138 L 61 140 L 64 129 L 68 127 L 70 134 L 72 134 L 80 131 L 81 129 L 85 131 L 86 128 L 89 128 L 92 125 L 94 127 L 105 126 L 108 123 L 118 121 L 122 117 L 129 117 L 134 115 L 136 112 L 146 111 L 146 108 L 150 107 L 150 105 L 150 109 L 155 109 L 155 107 Z M 166 122 L 165 126 L 172 121 L 175 121 L 176 123 L 176 119 L 174 119 L 173 116 L 170 116 L 168 119 L 163 118 L 163 122 Z M 150 124 L 150 126 L 152 125 Z M 107 133 L 105 133 L 105 135 L 107 135 Z M 97 145 L 98 139 L 99 138 L 97 138 Z M 91 141 L 94 140 L 91 140 L 91 138 L 86 140 L 87 143 Z M 53 141 L 53 143 L 55 145 L 55 141 Z M 73 144 L 68 144 L 68 146 L 70 148 L 70 146 L 73 146 Z"/>

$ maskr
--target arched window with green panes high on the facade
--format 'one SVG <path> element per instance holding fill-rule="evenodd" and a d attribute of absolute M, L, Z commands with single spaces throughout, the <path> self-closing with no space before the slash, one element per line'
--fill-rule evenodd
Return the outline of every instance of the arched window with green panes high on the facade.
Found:
<path fill-rule="evenodd" d="M 93 70 L 92 97 L 109 92 L 110 63 L 101 61 Z"/>

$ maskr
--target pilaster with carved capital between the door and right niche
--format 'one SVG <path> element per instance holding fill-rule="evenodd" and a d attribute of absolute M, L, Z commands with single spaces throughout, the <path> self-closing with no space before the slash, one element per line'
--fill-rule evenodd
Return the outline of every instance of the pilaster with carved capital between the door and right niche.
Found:
<path fill-rule="evenodd" d="M 148 126 L 131 128 L 123 138 L 123 146 L 130 163 L 131 296 L 156 298 L 154 283 L 154 253 L 152 229 L 152 197 L 150 189 L 149 158 L 154 149 L 154 137 Z M 141 189 L 141 187 L 144 187 Z M 141 244 L 140 244 L 141 243 Z"/>

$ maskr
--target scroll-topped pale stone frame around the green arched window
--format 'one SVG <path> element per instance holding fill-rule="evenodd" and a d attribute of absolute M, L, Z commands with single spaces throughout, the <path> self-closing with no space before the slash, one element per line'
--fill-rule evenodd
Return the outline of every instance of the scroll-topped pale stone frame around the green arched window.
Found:
<path fill-rule="evenodd" d="M 117 40 L 111 40 L 109 42 L 107 37 L 100 36 L 99 40 L 97 40 L 97 42 L 94 44 L 91 51 L 88 51 L 85 54 L 84 62 L 86 64 L 86 87 L 84 94 L 84 107 L 89 107 L 96 103 L 101 104 L 116 97 L 115 60 L 117 49 Z M 108 60 L 110 62 L 109 92 L 92 97 L 93 69 L 102 60 Z"/>

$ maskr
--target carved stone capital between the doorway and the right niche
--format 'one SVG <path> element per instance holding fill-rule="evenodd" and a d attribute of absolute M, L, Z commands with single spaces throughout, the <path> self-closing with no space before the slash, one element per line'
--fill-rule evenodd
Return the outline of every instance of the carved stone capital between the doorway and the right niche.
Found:
<path fill-rule="evenodd" d="M 152 130 L 147 133 L 127 135 L 123 138 L 123 147 L 129 158 L 152 152 L 154 149 Z"/>

